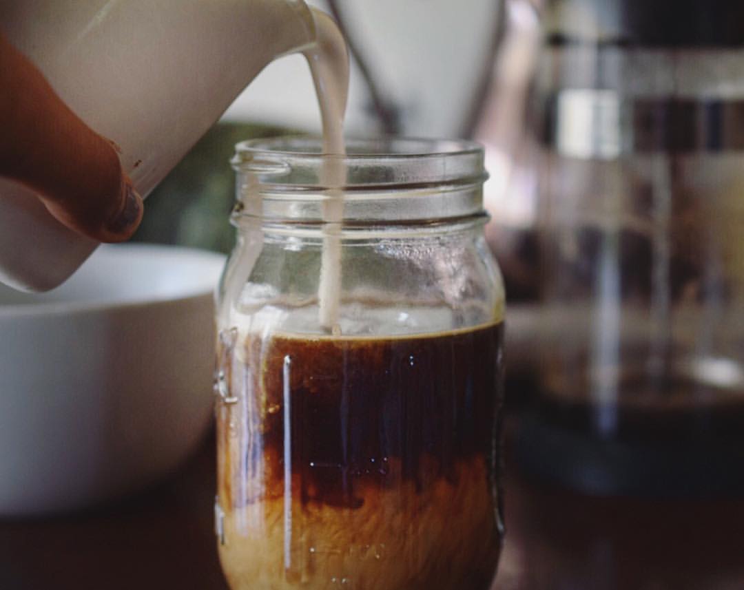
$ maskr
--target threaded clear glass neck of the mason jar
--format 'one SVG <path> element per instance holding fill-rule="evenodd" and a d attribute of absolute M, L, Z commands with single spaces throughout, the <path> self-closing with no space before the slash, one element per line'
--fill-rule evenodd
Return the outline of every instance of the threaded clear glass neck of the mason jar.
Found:
<path fill-rule="evenodd" d="M 324 204 L 343 196 L 344 229 L 482 223 L 484 152 L 464 140 L 347 140 L 347 155 L 321 153 L 317 137 L 238 143 L 234 224 L 320 227 Z M 322 181 L 324 163 L 344 168 L 345 181 Z"/>

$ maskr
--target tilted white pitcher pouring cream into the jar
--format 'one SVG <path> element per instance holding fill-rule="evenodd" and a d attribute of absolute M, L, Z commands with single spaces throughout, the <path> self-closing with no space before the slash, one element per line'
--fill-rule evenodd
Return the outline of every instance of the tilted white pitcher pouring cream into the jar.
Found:
<path fill-rule="evenodd" d="M 0 30 L 121 148 L 143 196 L 266 64 L 315 38 L 302 0 L 4 0 Z M 0 282 L 54 288 L 96 246 L 0 178 Z"/>

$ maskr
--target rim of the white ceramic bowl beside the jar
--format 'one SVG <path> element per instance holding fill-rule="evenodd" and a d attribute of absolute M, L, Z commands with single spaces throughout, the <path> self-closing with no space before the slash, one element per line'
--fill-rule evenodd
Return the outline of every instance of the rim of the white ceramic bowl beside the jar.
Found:
<path fill-rule="evenodd" d="M 211 265 L 215 272 L 220 272 L 225 267 L 227 256 L 211 250 L 199 248 L 176 246 L 169 244 L 101 244 L 92 256 L 99 250 L 109 252 L 131 252 L 131 253 L 159 253 L 164 255 L 190 256 L 199 259 L 202 264 Z M 74 275 L 73 275 L 74 276 Z M 71 279 L 68 279 L 71 280 Z M 77 315 L 97 313 L 101 311 L 135 311 L 142 308 L 150 308 L 158 305 L 170 305 L 174 302 L 188 302 L 214 297 L 217 282 L 202 281 L 196 283 L 193 288 L 185 290 L 182 295 L 176 296 L 138 296 L 132 299 L 109 299 L 103 301 L 51 301 L 51 302 L 29 302 L 29 303 L 0 303 L 0 320 L 15 319 L 19 317 L 37 317 L 60 315 Z"/>

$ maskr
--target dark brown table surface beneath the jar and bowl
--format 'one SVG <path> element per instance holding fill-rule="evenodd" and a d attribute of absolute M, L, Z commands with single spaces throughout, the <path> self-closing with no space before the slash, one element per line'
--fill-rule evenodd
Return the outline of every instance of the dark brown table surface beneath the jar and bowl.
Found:
<path fill-rule="evenodd" d="M 0 520 L 0 590 L 227 590 L 212 523 L 213 445 L 128 502 Z M 743 501 L 592 498 L 511 469 L 506 505 L 495 589 L 744 589 Z"/>

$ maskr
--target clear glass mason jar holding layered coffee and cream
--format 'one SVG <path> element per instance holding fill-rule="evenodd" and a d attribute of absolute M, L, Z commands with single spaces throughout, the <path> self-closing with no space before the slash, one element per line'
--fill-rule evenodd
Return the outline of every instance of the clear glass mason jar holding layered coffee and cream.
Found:
<path fill-rule="evenodd" d="M 217 311 L 222 568 L 234 590 L 487 590 L 504 291 L 483 152 L 347 149 L 237 146 Z M 329 165 L 345 166 L 342 189 L 321 183 Z"/>

